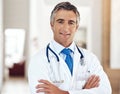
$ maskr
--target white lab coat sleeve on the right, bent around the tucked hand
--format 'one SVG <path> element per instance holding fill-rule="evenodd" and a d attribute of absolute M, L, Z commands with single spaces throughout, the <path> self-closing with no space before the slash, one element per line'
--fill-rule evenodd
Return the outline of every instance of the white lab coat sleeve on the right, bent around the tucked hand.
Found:
<path fill-rule="evenodd" d="M 93 54 L 90 59 L 91 60 L 88 60 L 88 62 L 91 61 L 88 64 L 88 67 L 91 70 L 91 74 L 99 75 L 100 77 L 99 87 L 91 88 L 91 89 L 82 89 L 82 90 L 69 90 L 69 94 L 112 94 L 109 79 L 106 73 L 104 72 L 99 60 Z"/>

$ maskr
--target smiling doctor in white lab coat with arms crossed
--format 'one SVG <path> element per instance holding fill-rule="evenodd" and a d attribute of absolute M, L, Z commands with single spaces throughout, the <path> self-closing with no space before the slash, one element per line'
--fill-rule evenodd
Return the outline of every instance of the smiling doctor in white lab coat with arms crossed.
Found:
<path fill-rule="evenodd" d="M 54 40 L 30 61 L 32 94 L 112 94 L 97 57 L 73 41 L 80 21 L 77 8 L 61 2 L 51 13 Z"/>

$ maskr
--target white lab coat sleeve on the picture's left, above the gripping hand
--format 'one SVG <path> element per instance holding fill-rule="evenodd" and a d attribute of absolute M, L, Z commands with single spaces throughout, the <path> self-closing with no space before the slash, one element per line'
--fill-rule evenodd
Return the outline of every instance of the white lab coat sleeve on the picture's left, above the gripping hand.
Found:
<path fill-rule="evenodd" d="M 31 94 L 44 94 L 36 93 L 36 85 L 40 79 L 49 80 L 48 71 L 45 67 L 44 59 L 38 54 L 32 57 L 28 67 L 28 82 L 30 86 Z"/>

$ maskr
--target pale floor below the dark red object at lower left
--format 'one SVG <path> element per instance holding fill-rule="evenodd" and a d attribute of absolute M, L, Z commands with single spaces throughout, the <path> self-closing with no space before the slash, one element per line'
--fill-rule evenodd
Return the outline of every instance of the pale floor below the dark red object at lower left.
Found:
<path fill-rule="evenodd" d="M 4 82 L 1 94 L 30 94 L 28 82 L 22 77 L 9 77 Z"/>

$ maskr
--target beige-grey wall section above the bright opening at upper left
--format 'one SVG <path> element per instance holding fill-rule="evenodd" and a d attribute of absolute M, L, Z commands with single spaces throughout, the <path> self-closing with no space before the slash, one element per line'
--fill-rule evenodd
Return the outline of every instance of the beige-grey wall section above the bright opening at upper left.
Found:
<path fill-rule="evenodd" d="M 28 28 L 28 0 L 4 0 L 4 28 Z"/>

